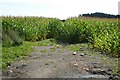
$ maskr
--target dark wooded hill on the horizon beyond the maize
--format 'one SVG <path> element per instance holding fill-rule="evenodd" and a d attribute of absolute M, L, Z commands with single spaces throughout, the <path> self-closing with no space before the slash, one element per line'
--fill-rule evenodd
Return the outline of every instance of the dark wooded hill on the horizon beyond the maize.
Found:
<path fill-rule="evenodd" d="M 98 17 L 98 18 L 120 18 L 120 15 L 112 15 L 112 14 L 105 14 L 105 13 L 87 13 L 87 14 L 82 14 L 79 15 L 79 17 L 84 16 L 84 17 Z"/>

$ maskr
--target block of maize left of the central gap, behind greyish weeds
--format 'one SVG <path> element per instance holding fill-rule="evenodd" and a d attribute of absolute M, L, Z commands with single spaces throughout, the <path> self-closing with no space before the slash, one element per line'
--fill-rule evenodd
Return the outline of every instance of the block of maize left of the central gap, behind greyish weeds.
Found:
<path fill-rule="evenodd" d="M 4 30 L 13 29 L 26 41 L 39 41 L 57 38 L 62 22 L 58 19 L 38 17 L 3 17 Z"/>

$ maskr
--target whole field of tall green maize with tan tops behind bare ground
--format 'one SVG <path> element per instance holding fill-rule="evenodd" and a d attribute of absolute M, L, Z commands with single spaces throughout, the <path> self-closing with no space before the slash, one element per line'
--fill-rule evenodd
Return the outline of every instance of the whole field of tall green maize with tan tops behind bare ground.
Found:
<path fill-rule="evenodd" d="M 2 46 L 54 38 L 67 43 L 89 43 L 112 56 L 120 53 L 120 27 L 116 19 L 2 17 Z"/>

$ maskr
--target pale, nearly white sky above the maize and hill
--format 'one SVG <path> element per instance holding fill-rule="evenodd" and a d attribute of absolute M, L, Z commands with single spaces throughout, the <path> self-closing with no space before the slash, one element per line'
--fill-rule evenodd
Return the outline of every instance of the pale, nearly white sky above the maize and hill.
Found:
<path fill-rule="evenodd" d="M 0 15 L 66 19 L 83 13 L 118 14 L 118 2 L 119 0 L 0 0 Z"/>

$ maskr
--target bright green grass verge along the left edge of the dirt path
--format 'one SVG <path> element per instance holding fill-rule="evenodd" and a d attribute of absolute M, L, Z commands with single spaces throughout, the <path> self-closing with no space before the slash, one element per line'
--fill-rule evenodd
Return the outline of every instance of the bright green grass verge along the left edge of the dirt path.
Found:
<path fill-rule="evenodd" d="M 23 42 L 21 46 L 3 47 L 2 48 L 2 69 L 6 69 L 15 60 L 25 58 L 30 52 L 34 51 L 33 46 L 54 45 L 54 39 L 47 39 L 39 42 Z M 44 51 L 45 52 L 45 51 Z"/>

